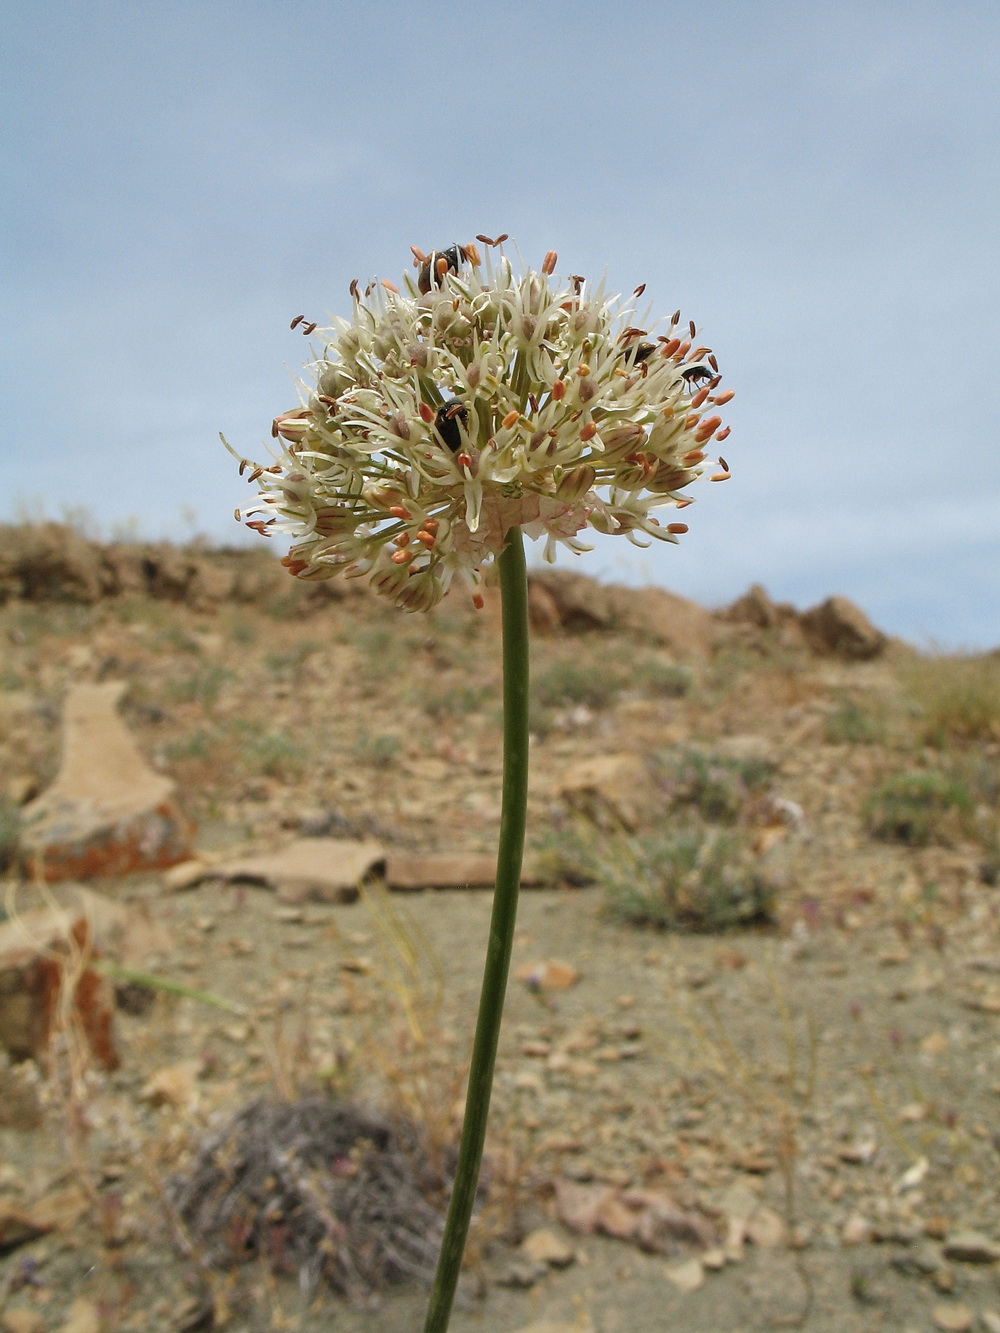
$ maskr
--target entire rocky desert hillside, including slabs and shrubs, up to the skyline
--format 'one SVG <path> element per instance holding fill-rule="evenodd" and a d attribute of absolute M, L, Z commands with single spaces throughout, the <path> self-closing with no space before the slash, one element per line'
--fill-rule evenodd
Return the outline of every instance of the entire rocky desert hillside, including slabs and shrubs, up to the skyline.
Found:
<path fill-rule="evenodd" d="M 452 1328 L 996 1333 L 1000 656 L 581 568 Z M 5 1333 L 421 1326 L 500 721 L 495 601 L 0 529 Z"/>

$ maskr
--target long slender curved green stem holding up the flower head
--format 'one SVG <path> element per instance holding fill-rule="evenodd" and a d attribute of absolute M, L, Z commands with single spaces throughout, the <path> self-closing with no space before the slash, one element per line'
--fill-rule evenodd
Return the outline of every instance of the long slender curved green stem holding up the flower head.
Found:
<path fill-rule="evenodd" d="M 469 1085 L 465 1094 L 465 1118 L 455 1168 L 455 1188 L 444 1224 L 441 1254 L 424 1333 L 445 1333 L 448 1328 L 465 1237 L 476 1202 L 524 856 L 524 826 L 528 812 L 528 576 L 520 528 L 511 528 L 508 532 L 507 545 L 497 565 L 504 632 L 504 785 L 500 806 L 500 852 L 476 1040 L 472 1045 Z"/>

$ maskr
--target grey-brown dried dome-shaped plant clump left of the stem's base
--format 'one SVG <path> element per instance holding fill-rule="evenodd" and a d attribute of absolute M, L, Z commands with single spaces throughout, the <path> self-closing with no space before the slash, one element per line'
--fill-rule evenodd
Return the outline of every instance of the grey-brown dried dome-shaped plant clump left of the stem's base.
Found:
<path fill-rule="evenodd" d="M 249 1102 L 175 1177 L 172 1204 L 213 1268 L 263 1260 L 360 1298 L 429 1281 L 444 1181 L 417 1130 L 351 1102 Z"/>

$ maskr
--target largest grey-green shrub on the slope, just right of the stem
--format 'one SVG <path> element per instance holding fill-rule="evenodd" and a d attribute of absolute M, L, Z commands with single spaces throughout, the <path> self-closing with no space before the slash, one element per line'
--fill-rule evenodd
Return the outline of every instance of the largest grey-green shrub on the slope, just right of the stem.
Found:
<path fill-rule="evenodd" d="M 669 930 L 773 920 L 775 886 L 736 833 L 693 826 L 619 838 L 597 860 L 611 916 Z"/>

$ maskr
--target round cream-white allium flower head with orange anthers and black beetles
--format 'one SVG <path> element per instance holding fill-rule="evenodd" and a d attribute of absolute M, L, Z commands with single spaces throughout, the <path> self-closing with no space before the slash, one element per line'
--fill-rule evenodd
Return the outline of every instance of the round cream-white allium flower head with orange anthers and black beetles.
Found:
<path fill-rule="evenodd" d="M 547 539 L 547 560 L 559 543 L 591 549 L 588 527 L 637 545 L 687 531 L 653 511 L 691 504 L 732 397 L 693 323 L 676 313 L 656 335 L 637 327 L 643 288 L 621 301 L 560 281 L 553 252 L 519 275 L 479 240 L 485 261 L 476 245 L 415 249 L 403 291 L 355 283 L 349 320 L 305 327 L 323 339 L 313 383 L 275 420 L 244 513 L 291 535 L 297 577 L 367 577 L 425 611 L 456 576 L 476 595 L 515 525 Z"/>

